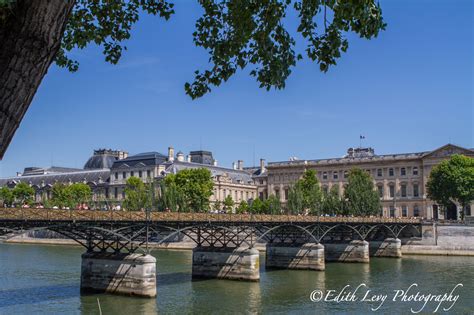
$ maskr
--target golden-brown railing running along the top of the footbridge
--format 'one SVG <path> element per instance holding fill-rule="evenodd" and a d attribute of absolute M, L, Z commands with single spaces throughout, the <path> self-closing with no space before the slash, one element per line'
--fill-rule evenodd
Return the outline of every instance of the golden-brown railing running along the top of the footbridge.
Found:
<path fill-rule="evenodd" d="M 62 210 L 35 208 L 0 208 L 0 219 L 46 221 L 145 221 L 143 211 Z M 214 214 L 151 212 L 152 221 L 196 222 L 334 222 L 334 223 L 421 223 L 420 218 L 327 217 L 269 214 Z"/>

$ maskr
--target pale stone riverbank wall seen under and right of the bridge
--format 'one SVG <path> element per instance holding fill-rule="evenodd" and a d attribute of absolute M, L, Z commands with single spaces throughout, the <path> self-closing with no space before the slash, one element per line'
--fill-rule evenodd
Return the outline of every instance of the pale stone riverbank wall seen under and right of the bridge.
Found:
<path fill-rule="evenodd" d="M 27 236 L 17 236 L 6 240 L 5 243 L 14 244 L 39 244 L 39 245 L 58 245 L 58 246 L 81 246 L 73 240 L 58 238 L 33 238 Z M 153 249 L 171 249 L 171 250 L 192 250 L 196 247 L 194 242 L 170 242 L 165 244 L 149 243 Z M 255 246 L 261 252 L 266 250 L 265 244 Z M 402 255 L 435 255 L 435 256 L 474 256 L 473 247 L 466 246 L 448 246 L 448 245 L 402 245 Z"/>

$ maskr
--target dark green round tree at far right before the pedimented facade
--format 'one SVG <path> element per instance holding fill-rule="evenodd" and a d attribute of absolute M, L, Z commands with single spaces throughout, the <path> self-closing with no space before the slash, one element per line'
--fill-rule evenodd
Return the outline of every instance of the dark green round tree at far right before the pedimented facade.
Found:
<path fill-rule="evenodd" d="M 433 167 L 426 188 L 428 197 L 442 206 L 459 203 L 464 219 L 464 208 L 474 200 L 474 158 L 452 155 Z"/>

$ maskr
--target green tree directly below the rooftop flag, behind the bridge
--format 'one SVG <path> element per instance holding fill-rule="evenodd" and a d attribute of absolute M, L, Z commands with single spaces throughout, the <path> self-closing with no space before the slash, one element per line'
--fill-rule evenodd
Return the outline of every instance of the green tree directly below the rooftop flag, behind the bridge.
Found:
<path fill-rule="evenodd" d="M 349 172 L 344 199 L 346 214 L 369 216 L 380 212 L 380 198 L 373 179 L 360 168 L 354 168 Z"/>

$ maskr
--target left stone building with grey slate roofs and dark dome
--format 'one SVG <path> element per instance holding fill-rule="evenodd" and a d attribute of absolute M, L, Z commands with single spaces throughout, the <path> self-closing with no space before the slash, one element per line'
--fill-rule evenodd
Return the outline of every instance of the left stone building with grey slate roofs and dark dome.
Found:
<path fill-rule="evenodd" d="M 145 152 L 129 156 L 124 151 L 95 150 L 83 169 L 27 167 L 15 177 L 0 179 L 0 187 L 13 188 L 20 182 L 28 183 L 35 189 L 35 201 L 41 203 L 51 198 L 55 183 L 84 183 L 91 187 L 93 201 L 115 204 L 125 198 L 126 181 L 132 176 L 149 182 L 190 168 L 207 168 L 211 172 L 214 181 L 211 203 L 222 202 L 229 195 L 236 204 L 257 197 L 252 176 L 242 168 L 217 166 L 209 151 L 191 151 L 186 158 L 182 152 L 175 156 L 172 147 L 168 148 L 167 155 Z"/>

